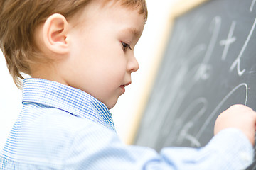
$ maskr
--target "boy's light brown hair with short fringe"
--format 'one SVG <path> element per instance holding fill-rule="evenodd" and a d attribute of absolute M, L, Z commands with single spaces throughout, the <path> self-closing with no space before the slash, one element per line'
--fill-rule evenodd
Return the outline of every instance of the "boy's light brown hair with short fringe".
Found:
<path fill-rule="evenodd" d="M 90 1 L 93 0 L 0 0 L 0 48 L 16 86 L 22 86 L 21 73 L 31 74 L 29 66 L 43 58 L 34 40 L 38 24 L 53 13 L 70 18 Z M 145 0 L 102 0 L 107 1 L 138 8 L 146 21 Z"/>

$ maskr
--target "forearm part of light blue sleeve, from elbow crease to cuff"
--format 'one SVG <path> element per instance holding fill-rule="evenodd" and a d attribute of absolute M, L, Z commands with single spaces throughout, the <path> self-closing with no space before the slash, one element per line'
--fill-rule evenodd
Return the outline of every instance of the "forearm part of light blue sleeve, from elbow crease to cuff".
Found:
<path fill-rule="evenodd" d="M 177 169 L 242 170 L 252 164 L 253 148 L 242 131 L 227 128 L 215 135 L 206 147 L 164 148 L 161 157 Z"/>

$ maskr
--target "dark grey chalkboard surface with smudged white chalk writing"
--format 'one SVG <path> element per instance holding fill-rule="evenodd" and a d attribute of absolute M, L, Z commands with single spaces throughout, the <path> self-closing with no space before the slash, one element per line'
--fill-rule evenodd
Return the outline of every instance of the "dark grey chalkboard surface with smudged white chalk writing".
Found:
<path fill-rule="evenodd" d="M 225 109 L 256 111 L 255 18 L 256 0 L 206 1 L 175 18 L 135 145 L 203 147 Z"/>

